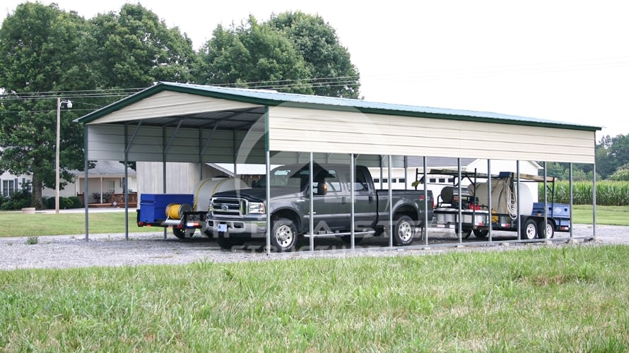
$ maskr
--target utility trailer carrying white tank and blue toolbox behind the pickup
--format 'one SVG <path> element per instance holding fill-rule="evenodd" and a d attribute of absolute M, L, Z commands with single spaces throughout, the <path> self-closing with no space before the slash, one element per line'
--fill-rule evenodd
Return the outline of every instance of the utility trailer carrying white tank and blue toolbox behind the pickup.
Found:
<path fill-rule="evenodd" d="M 469 186 L 461 186 L 459 196 L 459 171 L 453 169 L 430 169 L 428 174 L 445 175 L 452 178 L 451 186 L 445 186 L 437 196 L 435 223 L 437 227 L 454 227 L 458 232 L 459 224 L 462 235 L 468 238 L 472 232 L 477 238 L 486 238 L 489 227 L 493 230 L 517 232 L 519 205 L 519 225 L 522 239 L 552 238 L 555 232 L 570 231 L 570 205 L 554 202 L 554 177 L 546 177 L 547 191 L 551 194 L 551 202 L 546 204 L 534 202 L 527 187 L 520 189 L 520 201 L 517 201 L 517 174 L 500 172 L 488 175 L 474 172 L 461 172 L 461 179 L 468 179 Z M 416 172 L 416 188 L 423 184 L 423 177 Z M 484 182 L 478 182 L 478 179 Z M 520 183 L 544 182 L 544 177 L 519 174 Z M 488 182 L 491 183 L 491 210 L 488 202 Z M 459 210 L 460 208 L 460 210 Z M 459 222 L 459 211 L 461 222 Z M 546 213 L 546 217 L 545 217 Z M 544 221 L 546 220 L 546 227 Z M 546 229 L 543 232 L 543 229 Z"/>

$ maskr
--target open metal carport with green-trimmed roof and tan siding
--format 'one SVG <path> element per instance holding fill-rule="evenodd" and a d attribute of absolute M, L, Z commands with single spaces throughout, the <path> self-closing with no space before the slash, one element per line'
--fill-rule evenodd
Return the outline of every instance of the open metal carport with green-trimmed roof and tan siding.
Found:
<path fill-rule="evenodd" d="M 295 162 L 310 160 L 313 153 L 387 155 L 389 165 L 401 165 L 399 156 L 408 155 L 594 164 L 601 129 L 491 112 L 181 83 L 158 83 L 76 122 L 85 129 L 86 179 L 88 160 L 259 163 L 268 169 L 271 156 Z"/>

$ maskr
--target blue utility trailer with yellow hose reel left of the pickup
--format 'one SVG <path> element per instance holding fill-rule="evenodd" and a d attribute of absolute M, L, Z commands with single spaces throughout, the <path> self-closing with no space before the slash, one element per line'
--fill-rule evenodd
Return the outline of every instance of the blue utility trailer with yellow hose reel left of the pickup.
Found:
<path fill-rule="evenodd" d="M 192 210 L 192 193 L 143 193 L 137 210 L 138 227 L 172 227 L 179 239 L 189 238 L 205 225 L 207 211 Z"/>

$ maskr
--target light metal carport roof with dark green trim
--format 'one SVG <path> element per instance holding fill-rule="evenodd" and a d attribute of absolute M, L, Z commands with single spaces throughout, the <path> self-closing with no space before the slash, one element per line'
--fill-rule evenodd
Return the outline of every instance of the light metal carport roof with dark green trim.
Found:
<path fill-rule="evenodd" d="M 338 97 L 322 97 L 316 95 L 300 95 L 295 93 L 283 93 L 273 90 L 252 90 L 247 88 L 226 88 L 210 85 L 192 85 L 187 83 L 169 83 L 160 82 L 141 92 L 130 95 L 122 100 L 114 102 L 106 107 L 91 112 L 76 122 L 88 124 L 97 122 L 102 116 L 106 116 L 119 109 L 128 107 L 131 104 L 139 102 L 147 97 L 151 97 L 160 92 L 180 92 L 185 94 L 199 95 L 203 97 L 213 97 L 223 100 L 231 100 L 235 102 L 257 104 L 260 106 L 290 106 L 290 107 L 306 107 L 314 109 L 340 110 L 340 111 L 358 111 L 370 114 L 389 114 L 398 116 L 422 116 L 436 119 L 454 119 L 462 121 L 485 121 L 498 124 L 513 124 L 524 126 L 544 126 L 557 128 L 570 128 L 582 131 L 598 131 L 599 126 L 588 126 L 580 124 L 569 124 L 561 121 L 551 121 L 545 119 L 536 119 L 527 116 L 515 116 L 509 114 L 498 114 L 493 112 L 475 112 L 462 109 L 445 109 L 433 107 L 419 107 L 404 104 L 389 104 L 382 102 L 368 102 L 364 100 L 355 100 Z M 216 113 L 215 113 L 216 114 Z M 259 112 L 257 112 L 259 114 Z M 180 120 L 185 116 L 165 116 L 160 120 L 160 124 L 172 124 L 172 121 Z M 199 118 L 198 114 L 194 116 Z"/>

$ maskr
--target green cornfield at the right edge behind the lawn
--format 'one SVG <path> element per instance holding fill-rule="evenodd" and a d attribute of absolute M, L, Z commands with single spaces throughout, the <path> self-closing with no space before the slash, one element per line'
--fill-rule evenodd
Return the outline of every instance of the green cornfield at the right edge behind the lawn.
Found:
<path fill-rule="evenodd" d="M 574 181 L 572 183 L 572 203 L 592 205 L 592 181 Z M 548 184 L 551 187 L 551 184 Z M 539 199 L 543 199 L 543 184 L 539 184 Z M 550 193 L 548 198 L 550 198 Z M 568 181 L 555 182 L 555 203 L 570 202 L 570 184 Z M 629 181 L 596 181 L 596 205 L 629 205 Z"/>

